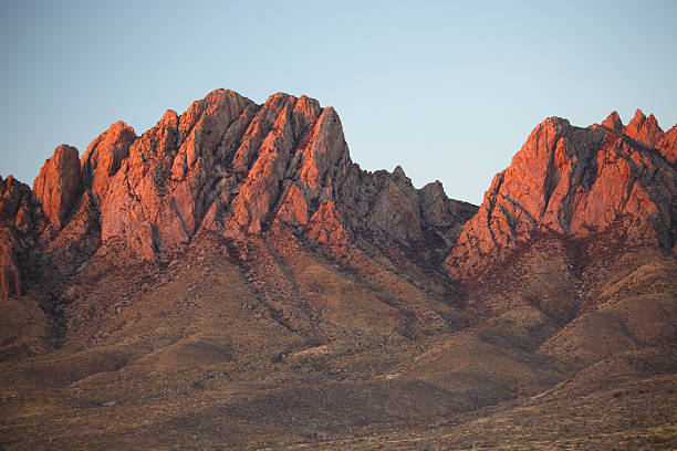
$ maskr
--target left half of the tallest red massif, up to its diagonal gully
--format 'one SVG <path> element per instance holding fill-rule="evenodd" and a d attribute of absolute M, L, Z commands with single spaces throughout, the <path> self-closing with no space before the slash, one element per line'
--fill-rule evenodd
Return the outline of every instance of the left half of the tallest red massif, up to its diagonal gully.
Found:
<path fill-rule="evenodd" d="M 216 189 L 226 185 L 223 159 L 256 108 L 249 99 L 220 90 L 180 117 L 165 113 L 134 141 L 108 182 L 101 201 L 102 241 L 116 239 L 150 260 L 189 242 Z"/>

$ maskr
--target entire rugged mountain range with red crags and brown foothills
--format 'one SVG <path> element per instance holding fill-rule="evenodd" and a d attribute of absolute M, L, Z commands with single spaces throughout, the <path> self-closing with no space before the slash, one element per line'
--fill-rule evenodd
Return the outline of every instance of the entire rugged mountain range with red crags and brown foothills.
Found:
<path fill-rule="evenodd" d="M 0 178 L 8 449 L 662 449 L 677 126 L 545 119 L 478 208 L 217 90 Z"/>

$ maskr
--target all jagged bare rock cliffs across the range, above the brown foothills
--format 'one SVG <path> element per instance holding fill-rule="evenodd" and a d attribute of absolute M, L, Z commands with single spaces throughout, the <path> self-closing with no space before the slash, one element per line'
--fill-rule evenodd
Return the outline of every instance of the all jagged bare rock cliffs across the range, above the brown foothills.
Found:
<path fill-rule="evenodd" d="M 217 90 L 138 137 L 113 124 L 80 159 L 56 148 L 34 183 L 48 221 L 15 208 L 9 233 L 33 237 L 51 223 L 42 233 L 49 249 L 105 253 L 114 243 L 153 261 L 201 232 L 241 242 L 279 220 L 336 249 L 360 240 L 405 248 L 470 281 L 540 230 L 584 238 L 621 224 L 628 244 L 671 248 L 676 137 L 639 111 L 627 127 L 615 112 L 590 128 L 549 118 L 478 211 L 439 182 L 414 188 L 400 167 L 360 169 L 336 112 L 315 99 L 280 93 L 257 105 Z M 6 248 L 3 264 L 13 268 L 21 252 Z"/>

